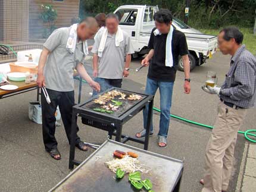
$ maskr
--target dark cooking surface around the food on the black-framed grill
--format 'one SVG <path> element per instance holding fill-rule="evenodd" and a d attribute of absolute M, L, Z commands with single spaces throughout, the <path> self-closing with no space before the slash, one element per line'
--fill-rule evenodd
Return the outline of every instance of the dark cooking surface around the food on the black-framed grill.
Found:
<path fill-rule="evenodd" d="M 111 89 L 112 90 L 112 89 Z M 119 100 L 118 97 L 120 96 L 117 96 L 115 97 L 114 100 L 119 100 L 120 102 L 123 102 L 123 105 L 121 105 L 117 111 L 114 111 L 114 114 L 110 114 L 110 115 L 113 115 L 115 117 L 120 117 L 121 115 L 123 115 L 125 112 L 127 112 L 129 109 L 131 109 L 133 106 L 135 106 L 136 104 L 138 104 L 139 102 L 141 102 L 143 99 L 145 99 L 147 97 L 147 95 L 143 95 L 142 93 L 135 93 L 135 92 L 130 92 L 130 91 L 127 91 L 127 90 L 123 90 L 123 89 L 113 89 L 113 90 L 117 90 L 119 92 L 122 92 L 124 93 L 125 95 L 130 96 L 130 95 L 139 95 L 139 96 L 142 96 L 142 99 L 141 100 L 128 100 L 128 99 L 124 99 L 124 100 Z M 109 92 L 110 90 L 107 90 L 106 92 L 104 93 L 107 93 Z M 104 93 L 102 93 L 101 95 L 104 95 Z M 102 105 L 99 105 L 97 103 L 94 103 L 93 100 L 94 99 L 97 99 L 98 96 L 96 97 L 93 97 L 92 100 L 89 100 L 89 102 L 85 103 L 85 105 L 82 106 L 82 108 L 85 108 L 85 109 L 89 109 L 90 111 L 93 111 L 94 108 L 102 108 Z M 111 101 L 107 102 L 106 105 L 108 105 L 109 103 L 111 103 Z M 95 112 L 95 111 L 93 111 Z M 104 114 L 104 113 L 102 113 Z"/>

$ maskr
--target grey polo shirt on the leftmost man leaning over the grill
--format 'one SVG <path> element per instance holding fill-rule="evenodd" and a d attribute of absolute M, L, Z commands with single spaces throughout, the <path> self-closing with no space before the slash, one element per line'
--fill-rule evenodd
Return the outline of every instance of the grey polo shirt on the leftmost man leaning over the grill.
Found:
<path fill-rule="evenodd" d="M 58 92 L 74 90 L 74 68 L 77 64 L 85 62 L 82 42 L 76 44 L 76 49 L 70 53 L 66 49 L 70 27 L 55 30 L 43 46 L 51 51 L 44 68 L 46 88 Z"/>

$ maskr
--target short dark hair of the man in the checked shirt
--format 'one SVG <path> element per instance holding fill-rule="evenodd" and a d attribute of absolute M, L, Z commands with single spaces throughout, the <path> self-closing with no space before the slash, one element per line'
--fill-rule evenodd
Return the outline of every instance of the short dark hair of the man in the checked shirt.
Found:
<path fill-rule="evenodd" d="M 234 38 L 238 45 L 243 42 L 243 34 L 236 27 L 224 28 L 220 31 L 220 33 L 221 32 L 224 32 L 224 40 L 229 41 L 230 39 Z"/>

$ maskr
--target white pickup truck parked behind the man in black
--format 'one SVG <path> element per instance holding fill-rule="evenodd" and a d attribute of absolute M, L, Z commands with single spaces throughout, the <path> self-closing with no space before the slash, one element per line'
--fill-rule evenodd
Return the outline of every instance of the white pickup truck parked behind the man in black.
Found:
<path fill-rule="evenodd" d="M 157 11 L 157 6 L 146 5 L 124 5 L 114 11 L 119 17 L 121 29 L 130 34 L 135 49 L 133 55 L 135 58 L 149 52 L 147 48 L 149 37 L 155 27 L 153 15 Z M 217 51 L 216 36 L 202 34 L 177 18 L 173 18 L 173 27 L 185 33 L 191 70 L 196 65 L 202 65 L 207 58 L 211 58 L 211 55 Z M 182 59 L 179 60 L 178 69 L 183 71 Z"/>

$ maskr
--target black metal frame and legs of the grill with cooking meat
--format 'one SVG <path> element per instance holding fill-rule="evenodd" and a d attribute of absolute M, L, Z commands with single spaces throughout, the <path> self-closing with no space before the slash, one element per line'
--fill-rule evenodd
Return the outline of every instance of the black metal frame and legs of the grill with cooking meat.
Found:
<path fill-rule="evenodd" d="M 119 90 L 121 92 L 128 93 L 129 91 L 117 88 L 111 88 L 106 92 L 111 90 Z M 105 93 L 106 93 L 105 92 Z M 141 93 L 129 92 L 131 94 L 138 94 L 143 95 Z M 104 94 L 104 93 L 102 93 Z M 148 150 L 148 143 L 149 143 L 149 132 L 150 132 L 150 125 L 152 119 L 152 108 L 154 104 L 154 96 L 152 95 L 143 95 L 143 99 L 139 102 L 136 102 L 134 105 L 129 106 L 124 114 L 121 115 L 110 115 L 110 114 L 103 114 L 100 112 L 95 112 L 92 109 L 86 108 L 87 103 L 92 103 L 93 99 L 96 97 L 92 97 L 92 99 L 88 100 L 88 102 L 73 106 L 72 112 L 72 126 L 71 126 L 71 138 L 70 138 L 70 159 L 69 159 L 69 168 L 73 169 L 74 165 L 79 165 L 77 160 L 74 160 L 75 156 L 75 140 L 76 140 L 76 126 L 77 126 L 77 116 L 79 115 L 82 117 L 82 123 L 85 125 L 89 125 L 91 127 L 99 128 L 104 131 L 108 131 L 108 135 L 110 139 L 112 136 L 115 136 L 115 141 L 126 143 L 127 141 L 134 141 L 136 143 L 141 143 L 144 145 L 144 149 Z M 148 112 L 148 121 L 146 125 L 146 137 L 145 140 L 136 139 L 135 137 L 126 136 L 122 134 L 123 124 L 125 124 L 129 119 L 134 117 L 138 114 L 142 109 L 145 108 L 146 105 L 149 105 L 149 112 Z M 116 133 L 114 133 L 116 130 Z M 123 139 L 123 141 L 122 141 Z"/>

